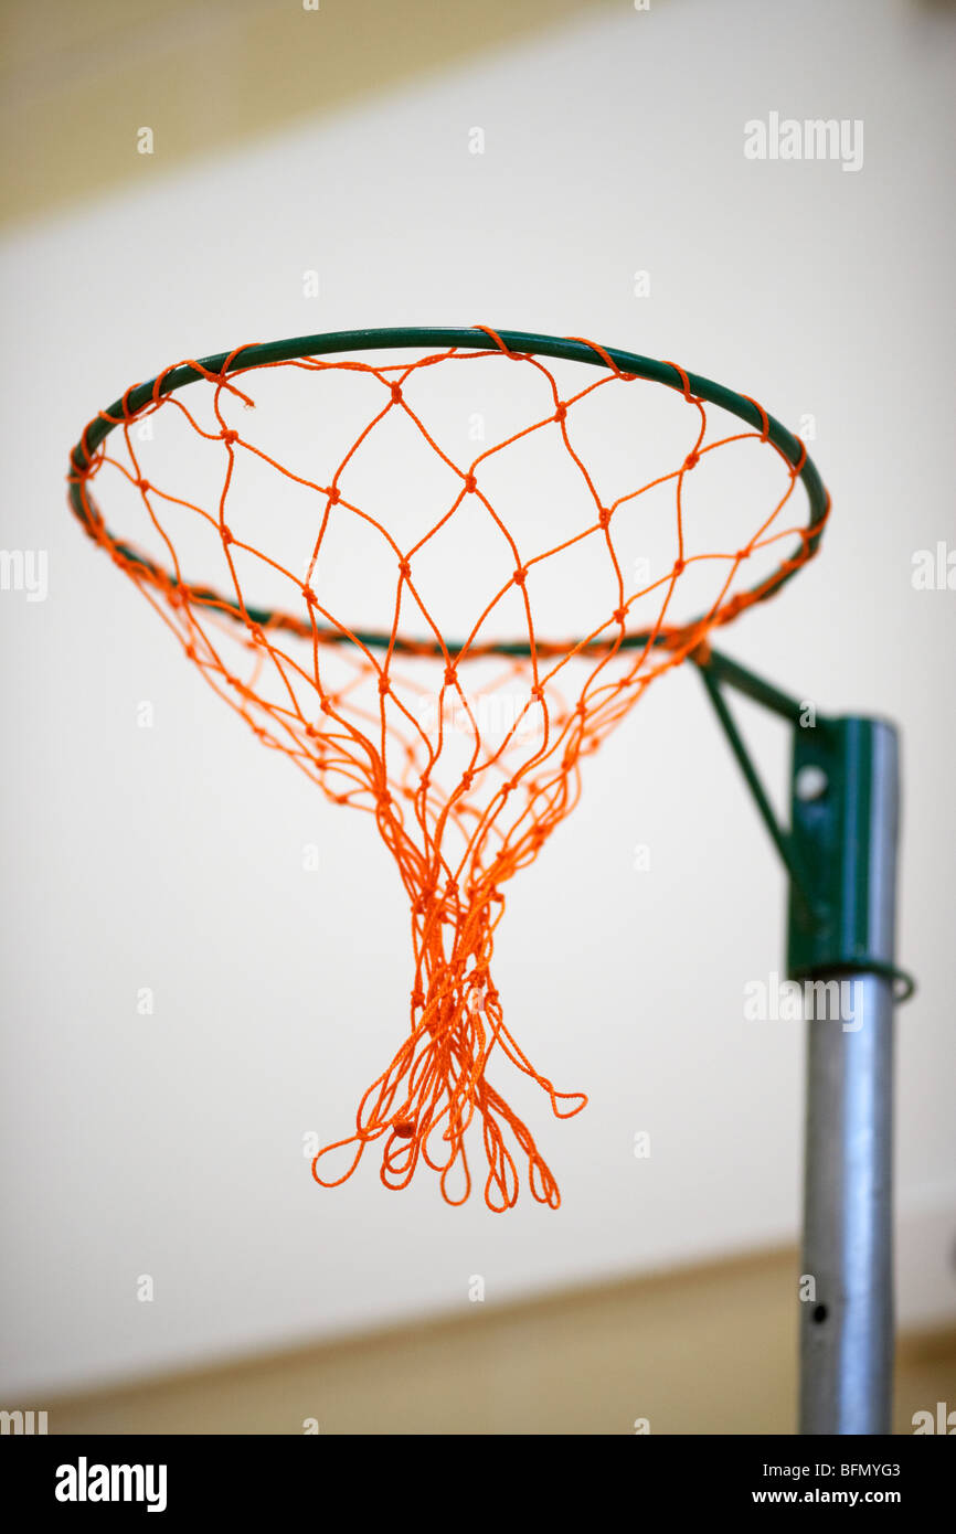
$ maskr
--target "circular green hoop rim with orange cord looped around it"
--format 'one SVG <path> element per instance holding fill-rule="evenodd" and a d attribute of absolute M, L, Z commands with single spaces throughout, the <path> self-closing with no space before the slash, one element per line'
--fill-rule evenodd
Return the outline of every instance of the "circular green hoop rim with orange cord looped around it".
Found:
<path fill-rule="evenodd" d="M 689 391 L 691 396 L 697 396 L 710 405 L 717 405 L 720 410 L 726 410 L 729 414 L 737 416 L 746 425 L 758 428 L 764 440 L 772 442 L 773 446 L 780 449 L 783 457 L 795 471 L 795 477 L 801 480 L 807 494 L 810 518 L 804 529 L 804 532 L 809 534 L 804 540 L 806 552 L 798 565 L 795 565 L 793 560 L 784 560 L 778 566 L 776 572 L 761 581 L 760 586 L 741 592 L 741 606 L 766 601 L 767 597 L 775 595 L 789 580 L 792 580 L 796 571 L 816 554 L 830 509 L 830 497 L 819 471 L 799 437 L 793 436 L 793 433 L 764 411 L 747 394 L 740 394 L 737 390 L 726 388 L 723 384 L 715 384 L 712 379 L 701 377 L 697 373 L 684 371 L 674 362 L 658 362 L 654 357 L 644 357 L 634 351 L 623 351 L 618 347 L 603 347 L 575 336 L 545 336 L 534 331 L 491 330 L 485 327 L 459 328 L 397 325 L 371 330 L 333 330 L 313 336 L 292 336 L 285 341 L 250 342 L 247 345 L 236 347 L 232 351 L 219 351 L 213 356 L 201 357 L 196 364 L 183 362 L 178 367 L 157 374 L 144 384 L 137 384 L 126 390 L 120 399 L 114 400 L 107 410 L 100 411 L 100 414 L 89 422 L 69 454 L 69 505 L 87 532 L 94 532 L 94 528 L 103 528 L 110 545 L 126 560 L 144 568 L 157 577 L 163 577 L 166 583 L 175 586 L 176 580 L 169 571 L 163 571 L 137 549 L 118 542 L 112 537 L 112 534 L 109 534 L 109 529 L 104 528 L 103 518 L 100 517 L 92 497 L 89 497 L 86 486 L 87 471 L 92 465 L 94 454 L 98 451 L 110 431 L 124 422 L 135 419 L 150 402 L 158 402 L 161 397 L 172 394 L 175 390 L 184 388 L 187 384 L 195 384 L 199 379 L 206 379 L 209 382 L 210 374 L 227 377 L 269 364 L 293 362 L 299 357 L 328 356 L 339 351 L 388 351 L 401 348 L 430 350 L 434 347 L 482 351 L 494 350 L 496 341 L 499 344 L 499 350 L 503 348 L 505 354 L 513 353 L 516 359 L 522 359 L 523 356 L 546 356 L 559 357 L 566 362 L 583 362 L 591 367 L 609 367 L 612 371 L 631 377 L 644 379 L 651 384 L 663 384 L 664 387 L 677 390 L 684 396 L 687 396 Z M 199 597 L 212 597 L 219 603 L 224 601 L 224 598 L 216 592 L 203 591 L 195 586 L 192 591 Z M 230 606 L 229 601 L 224 604 L 226 607 Z M 276 612 L 252 607 L 247 607 L 246 612 L 249 618 L 261 626 L 265 626 L 281 617 Z M 235 609 L 235 617 L 242 618 L 238 607 Z M 681 624 L 681 632 L 686 634 L 692 632 L 695 627 L 706 626 L 706 618 L 700 617 Z M 335 629 L 321 630 L 321 634 L 322 638 L 327 638 L 328 641 L 351 641 L 350 635 L 341 634 Z M 396 641 L 388 634 L 365 630 L 354 630 L 354 638 L 361 644 L 368 644 L 371 647 L 382 649 L 391 646 L 391 649 L 408 649 L 413 653 L 431 653 L 433 643 L 427 640 Z M 614 643 L 615 647 L 631 649 L 646 646 L 648 643 L 666 644 L 669 640 L 672 640 L 669 632 L 652 634 L 651 630 L 643 630 L 640 634 L 626 634 L 618 637 Z M 447 649 L 450 653 L 457 653 L 460 650 L 460 644 L 456 646 L 454 643 L 448 643 Z M 437 646 L 434 646 L 434 653 L 439 653 Z M 505 640 L 482 646 L 482 653 L 522 657 L 531 653 L 531 650 L 528 641 Z"/>

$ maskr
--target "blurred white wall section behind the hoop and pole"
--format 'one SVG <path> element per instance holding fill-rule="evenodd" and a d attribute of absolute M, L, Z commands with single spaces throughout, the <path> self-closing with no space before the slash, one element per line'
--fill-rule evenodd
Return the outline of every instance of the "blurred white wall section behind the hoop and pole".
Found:
<path fill-rule="evenodd" d="M 348 1123 L 404 1026 L 397 879 L 364 819 L 216 706 L 81 537 L 63 474 L 127 382 L 361 324 L 589 334 L 815 416 L 822 554 L 724 646 L 902 724 L 899 954 L 921 991 L 899 1020 L 901 1319 L 956 1313 L 956 594 L 910 580 L 915 551 L 953 545 L 951 61 L 951 14 L 919 5 L 621 5 L 187 172 L 144 158 L 138 190 L 5 241 L 2 537 L 49 551 L 49 598 L 0 600 L 9 1388 L 448 1310 L 474 1273 L 494 1302 L 798 1226 L 801 1029 L 741 1017 L 744 982 L 783 966 L 784 881 L 689 672 L 588 764 L 508 896 L 509 1023 L 591 1097 L 565 1124 L 526 1100 L 560 1212 L 450 1210 L 424 1177 L 391 1195 L 371 1157 L 335 1192 L 308 1175 L 304 1132 Z M 743 124 L 770 110 L 862 118 L 862 170 L 747 161 Z M 783 785 L 784 733 L 741 718 Z"/>

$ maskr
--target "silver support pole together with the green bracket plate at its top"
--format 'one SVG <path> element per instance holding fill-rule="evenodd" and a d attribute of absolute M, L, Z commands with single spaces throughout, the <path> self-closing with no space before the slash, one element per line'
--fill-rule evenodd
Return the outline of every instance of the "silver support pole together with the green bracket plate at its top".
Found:
<path fill-rule="evenodd" d="M 819 899 L 790 902 L 790 974 L 815 982 L 799 1430 L 890 1433 L 896 732 L 829 721 L 796 732 L 793 756 L 793 838 Z"/>

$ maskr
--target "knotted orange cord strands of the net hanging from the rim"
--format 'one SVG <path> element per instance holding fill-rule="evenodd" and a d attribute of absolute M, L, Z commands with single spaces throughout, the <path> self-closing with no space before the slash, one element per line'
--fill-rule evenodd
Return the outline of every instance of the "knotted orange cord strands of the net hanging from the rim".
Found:
<path fill-rule="evenodd" d="M 138 413 L 129 410 L 127 391 L 117 433 L 109 439 L 110 451 L 104 442 L 84 469 L 74 471 L 72 480 L 81 486 L 89 535 L 141 589 L 207 684 L 264 746 L 287 756 L 328 799 L 374 819 L 405 890 L 413 957 L 408 1029 L 361 1098 L 353 1134 L 316 1155 L 316 1181 L 325 1187 L 347 1181 L 365 1150 L 377 1144 L 385 1187 L 407 1187 L 424 1163 L 437 1174 L 443 1198 L 460 1204 L 471 1192 L 473 1150 L 466 1141 L 470 1127 L 477 1124 L 488 1207 L 503 1210 L 516 1203 L 523 1164 L 534 1198 L 555 1209 L 557 1183 L 532 1132 L 491 1085 L 490 1072 L 508 1062 L 542 1088 L 557 1118 L 571 1118 L 588 1100 L 582 1092 L 557 1091 L 505 1025 L 491 976 L 494 937 L 505 910 L 503 888 L 537 858 L 574 808 L 582 758 L 598 749 L 648 684 L 691 652 L 706 655 L 709 634 L 780 581 L 776 565 L 775 574 L 757 589 L 737 591 L 741 566 L 758 551 L 789 540 L 795 549 L 783 569 L 796 569 L 810 557 L 812 534 L 786 515 L 801 465 L 790 465 L 769 443 L 763 407 L 755 407 L 761 431 L 741 430 L 709 440 L 704 402 L 694 396 L 683 368 L 671 364 L 680 380 L 674 393 L 683 396 L 691 411 L 689 446 L 677 466 L 605 503 L 575 445 L 572 422 L 583 400 L 600 390 L 628 388 L 632 376 L 621 373 L 602 347 L 583 342 L 608 371 L 577 393 L 562 396 L 552 371 L 539 357 L 509 351 L 493 330 L 486 334 L 488 351 L 448 348 L 388 365 L 299 357 L 242 368 L 246 348 L 239 347 L 229 359 L 229 368 L 239 359 L 238 370 L 227 377 L 226 370 L 213 374 L 190 360 L 212 391 L 210 417 L 203 422 L 198 408 L 163 393 L 172 373 L 166 370 Z M 482 446 L 470 460 L 457 462 L 422 420 L 413 385 L 433 368 L 496 356 L 502 365 L 537 373 L 548 410 Z M 331 472 L 319 479 L 308 477 L 301 465 L 296 471 L 285 466 L 255 440 L 244 422 L 236 425 L 235 410 L 253 407 L 253 376 L 275 370 L 361 374 L 376 390 L 371 414 L 358 437 Z M 201 387 L 206 385 L 196 385 Z M 143 472 L 144 440 L 138 433 L 161 413 L 186 425 L 210 453 L 223 456 L 215 483 L 203 497 L 192 500 L 163 491 Z M 397 528 L 350 489 L 354 465 L 374 446 L 384 425 L 396 419 L 454 480 L 439 515 L 408 546 L 399 542 Z M 566 454 L 589 511 L 571 535 L 522 554 L 520 529 L 511 531 L 483 479 L 490 465 L 542 433 L 549 433 Z M 747 439 L 776 453 L 783 465 L 781 492 L 740 548 L 724 552 L 695 548 L 686 526 L 687 479 L 709 454 Z M 267 554 L 259 535 L 253 540 L 236 531 L 233 486 L 239 468 L 247 466 L 259 476 L 279 476 L 308 497 L 310 532 L 298 568 Z M 161 560 L 107 531 L 92 488 L 110 476 L 135 492 L 143 528 Z M 669 568 L 635 583 L 618 552 L 615 528 L 651 492 L 672 495 L 674 558 Z M 431 612 L 419 565 L 463 506 L 496 529 L 506 563 L 477 618 L 451 640 Z M 335 581 L 324 578 L 333 529 L 338 534 L 350 520 L 361 523 L 364 534 L 381 538 L 384 557 L 393 561 L 394 592 L 379 635 L 364 632 L 348 612 L 338 611 Z M 265 509 L 259 526 L 265 529 L 267 523 Z M 176 549 L 184 525 L 206 531 L 218 545 L 219 589 L 195 583 L 184 568 Z M 540 635 L 532 604 L 539 571 L 548 560 L 583 545 L 598 546 L 606 555 L 608 611 L 574 638 Z M 712 601 L 703 617 L 680 624 L 671 618 L 675 591 L 704 561 L 714 561 L 718 577 Z M 269 611 L 255 606 L 247 597 L 253 572 L 284 589 L 282 604 Z M 490 634 L 505 601 L 517 601 L 523 615 L 517 635 L 522 653 L 502 653 L 500 640 Z M 641 603 L 654 604 L 654 620 L 643 630 L 643 641 L 634 644 L 629 643 L 632 614 Z M 468 673 L 479 664 L 499 669 L 476 698 Z M 517 696 L 517 703 L 496 733 L 486 727 L 479 704 L 505 693 Z M 339 1161 L 344 1155 L 344 1170 L 325 1172 L 325 1158 L 336 1155 Z"/>

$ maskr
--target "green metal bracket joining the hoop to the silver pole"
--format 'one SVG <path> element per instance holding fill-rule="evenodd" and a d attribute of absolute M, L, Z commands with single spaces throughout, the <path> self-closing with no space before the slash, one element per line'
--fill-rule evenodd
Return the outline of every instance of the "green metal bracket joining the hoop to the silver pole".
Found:
<path fill-rule="evenodd" d="M 875 762 L 879 723 L 865 718 L 804 719 L 793 698 L 715 650 L 695 655 L 707 696 L 753 795 L 760 816 L 790 876 L 787 973 L 884 974 L 896 1000 L 915 989 L 910 976 L 881 959 L 885 934 L 875 899 L 872 858 Z M 780 825 L 760 775 L 737 729 L 723 686 L 793 724 L 792 822 Z"/>

